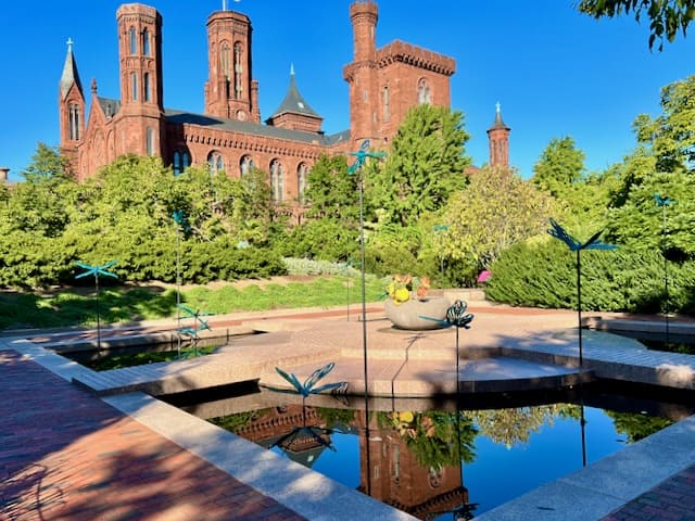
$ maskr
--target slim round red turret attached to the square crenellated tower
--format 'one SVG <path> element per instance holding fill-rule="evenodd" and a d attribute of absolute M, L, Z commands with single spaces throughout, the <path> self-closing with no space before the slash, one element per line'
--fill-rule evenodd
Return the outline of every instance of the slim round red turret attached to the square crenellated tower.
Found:
<path fill-rule="evenodd" d="M 364 139 L 378 142 L 377 126 L 377 64 L 376 33 L 379 12 L 371 1 L 350 5 L 353 28 L 354 61 L 344 69 L 350 85 L 350 137 L 353 142 Z"/>

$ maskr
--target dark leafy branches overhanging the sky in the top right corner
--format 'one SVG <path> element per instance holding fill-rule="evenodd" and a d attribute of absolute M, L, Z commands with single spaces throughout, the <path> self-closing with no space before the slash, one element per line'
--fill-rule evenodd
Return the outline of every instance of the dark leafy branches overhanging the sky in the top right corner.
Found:
<path fill-rule="evenodd" d="M 659 51 L 664 40 L 673 41 L 679 31 L 685 31 L 695 18 L 693 0 L 581 0 L 579 11 L 595 18 L 633 14 L 640 22 L 643 14 L 649 20 L 649 49 L 659 40 Z"/>

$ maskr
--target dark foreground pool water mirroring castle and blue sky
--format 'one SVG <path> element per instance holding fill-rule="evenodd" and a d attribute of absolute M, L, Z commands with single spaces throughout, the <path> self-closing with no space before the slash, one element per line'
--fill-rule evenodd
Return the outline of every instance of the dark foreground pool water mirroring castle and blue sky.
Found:
<path fill-rule="evenodd" d="M 268 391 L 173 403 L 420 519 L 443 520 L 455 510 L 472 519 L 693 414 L 652 394 L 589 386 L 471 398 L 458 410 L 324 396 L 302 405 Z"/>

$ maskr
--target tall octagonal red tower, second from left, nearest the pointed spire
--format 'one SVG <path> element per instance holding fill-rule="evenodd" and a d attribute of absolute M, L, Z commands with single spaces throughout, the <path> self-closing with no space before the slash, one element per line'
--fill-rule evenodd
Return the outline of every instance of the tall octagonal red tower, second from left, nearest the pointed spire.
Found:
<path fill-rule="evenodd" d="M 116 155 L 163 154 L 162 16 L 140 3 L 116 11 L 121 60 L 121 110 Z"/>

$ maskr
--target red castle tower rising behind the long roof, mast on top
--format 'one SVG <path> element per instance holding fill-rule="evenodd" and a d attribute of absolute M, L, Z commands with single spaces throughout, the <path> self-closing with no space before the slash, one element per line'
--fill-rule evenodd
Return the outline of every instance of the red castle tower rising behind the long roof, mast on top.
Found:
<path fill-rule="evenodd" d="M 207 18 L 205 114 L 260 123 L 258 85 L 252 80 L 251 21 L 217 11 Z"/>

